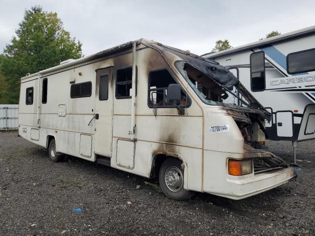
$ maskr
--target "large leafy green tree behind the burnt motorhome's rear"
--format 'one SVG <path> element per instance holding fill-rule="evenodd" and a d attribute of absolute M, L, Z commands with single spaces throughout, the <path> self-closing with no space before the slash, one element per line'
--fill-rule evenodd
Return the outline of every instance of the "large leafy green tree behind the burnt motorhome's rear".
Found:
<path fill-rule="evenodd" d="M 82 55 L 82 44 L 70 37 L 63 29 L 57 13 L 43 11 L 41 6 L 25 10 L 24 19 L 15 31 L 10 44 L 1 55 L 0 74 L 6 81 L 6 103 L 17 103 L 20 78 L 27 73 L 56 66 L 65 59 L 78 59 Z M 3 90 L 1 86 L 1 90 Z"/>

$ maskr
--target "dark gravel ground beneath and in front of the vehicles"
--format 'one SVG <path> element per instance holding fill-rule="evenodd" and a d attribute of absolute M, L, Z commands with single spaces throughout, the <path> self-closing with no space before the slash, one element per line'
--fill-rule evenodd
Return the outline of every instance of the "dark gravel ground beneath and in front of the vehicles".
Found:
<path fill-rule="evenodd" d="M 267 145 L 292 160 L 290 142 Z M 53 163 L 47 150 L 2 132 L 0 236 L 315 235 L 314 157 L 315 141 L 300 143 L 297 181 L 244 200 L 196 193 L 176 202 L 154 180 L 80 159 Z"/>

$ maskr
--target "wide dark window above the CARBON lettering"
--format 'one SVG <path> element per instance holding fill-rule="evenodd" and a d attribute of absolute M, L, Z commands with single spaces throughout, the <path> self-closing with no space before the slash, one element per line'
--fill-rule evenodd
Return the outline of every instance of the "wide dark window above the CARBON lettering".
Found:
<path fill-rule="evenodd" d="M 286 56 L 287 73 L 296 74 L 315 70 L 315 48 Z"/>

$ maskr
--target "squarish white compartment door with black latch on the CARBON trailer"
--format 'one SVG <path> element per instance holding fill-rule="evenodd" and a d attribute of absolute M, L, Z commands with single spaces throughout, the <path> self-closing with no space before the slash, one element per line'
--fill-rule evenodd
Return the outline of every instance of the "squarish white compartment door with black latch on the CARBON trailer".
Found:
<path fill-rule="evenodd" d="M 277 135 L 279 137 L 293 136 L 293 116 L 292 112 L 277 112 Z"/>

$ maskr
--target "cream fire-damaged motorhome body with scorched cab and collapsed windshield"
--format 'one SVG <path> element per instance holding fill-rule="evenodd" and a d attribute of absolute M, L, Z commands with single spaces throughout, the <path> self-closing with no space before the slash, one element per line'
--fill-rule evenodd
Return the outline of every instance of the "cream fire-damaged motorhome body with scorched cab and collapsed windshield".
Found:
<path fill-rule="evenodd" d="M 179 60 L 183 59 L 163 45 L 141 39 L 26 76 L 21 79 L 19 135 L 45 148 L 55 140 L 57 152 L 143 177 L 152 177 L 165 158 L 177 158 L 184 169 L 185 189 L 232 199 L 295 177 L 291 167 L 255 173 L 253 164 L 250 174 L 229 175 L 230 159 L 252 161 L 269 154 L 244 148 L 230 112 L 200 100 L 175 67 Z M 127 83 L 119 84 L 118 77 L 132 67 L 136 90 L 126 90 L 121 97 L 118 88 L 124 90 Z M 174 107 L 150 107 L 150 102 L 157 102 L 150 89 L 157 87 L 148 88 L 148 78 L 159 71 L 171 75 L 188 94 L 184 115 Z M 103 83 L 107 83 L 107 97 Z M 211 131 L 211 127 L 217 128 Z"/>

